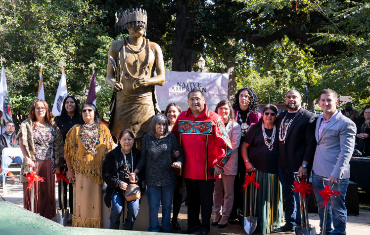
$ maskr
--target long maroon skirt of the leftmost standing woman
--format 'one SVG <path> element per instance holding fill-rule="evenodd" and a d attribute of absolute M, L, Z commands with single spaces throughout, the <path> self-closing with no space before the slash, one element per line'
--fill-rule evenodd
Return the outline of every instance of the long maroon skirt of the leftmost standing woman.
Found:
<path fill-rule="evenodd" d="M 35 163 L 39 164 L 38 168 L 34 167 L 37 169 L 36 174 L 44 177 L 45 182 L 35 183 L 34 212 L 51 220 L 56 216 L 55 182 L 51 170 L 51 160 L 36 161 Z M 27 186 L 28 182 L 23 183 L 23 208 L 31 210 L 31 189 L 27 189 Z"/>

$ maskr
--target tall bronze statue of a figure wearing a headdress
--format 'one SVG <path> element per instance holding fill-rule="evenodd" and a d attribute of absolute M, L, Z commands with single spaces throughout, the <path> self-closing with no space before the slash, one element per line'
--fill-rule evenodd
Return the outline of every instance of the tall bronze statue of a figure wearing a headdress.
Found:
<path fill-rule="evenodd" d="M 162 86 L 165 80 L 161 48 L 142 37 L 146 35 L 146 19 L 146 11 L 141 9 L 116 13 L 116 27 L 126 28 L 130 37 L 111 44 L 105 78 L 114 91 L 111 134 L 118 137 L 121 130 L 128 128 L 134 132 L 138 147 L 149 132 L 152 117 L 160 113 L 155 85 Z"/>

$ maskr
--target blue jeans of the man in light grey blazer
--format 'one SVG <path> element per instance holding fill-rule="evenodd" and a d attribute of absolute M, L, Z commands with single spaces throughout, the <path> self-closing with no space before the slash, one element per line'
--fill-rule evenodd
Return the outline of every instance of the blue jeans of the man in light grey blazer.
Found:
<path fill-rule="evenodd" d="M 323 176 L 319 176 L 312 173 L 312 185 L 314 186 L 314 192 L 316 196 L 317 205 L 319 207 L 320 216 L 320 231 L 323 228 L 324 219 L 324 199 L 319 194 L 319 190 L 324 189 Z M 340 192 L 341 196 L 332 196 L 328 202 L 327 206 L 327 216 L 326 216 L 326 235 L 345 235 L 346 233 L 346 223 L 347 223 L 347 208 L 344 205 L 345 197 L 347 193 L 349 179 L 340 180 L 339 183 L 334 184 L 333 191 Z M 325 182 L 325 186 L 332 184 Z M 334 229 L 331 228 L 331 222 L 333 222 Z"/>

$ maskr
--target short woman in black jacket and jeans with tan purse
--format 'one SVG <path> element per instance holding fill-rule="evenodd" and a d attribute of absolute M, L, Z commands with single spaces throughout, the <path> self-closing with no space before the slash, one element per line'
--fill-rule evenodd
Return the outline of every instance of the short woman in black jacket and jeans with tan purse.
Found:
<path fill-rule="evenodd" d="M 120 227 L 120 217 L 125 204 L 124 193 L 128 184 L 137 183 L 142 192 L 142 180 L 145 177 L 145 170 L 137 174 L 133 173 L 141 157 L 140 150 L 133 147 L 135 140 L 133 132 L 129 129 L 123 130 L 118 139 L 120 140 L 118 146 L 108 153 L 102 167 L 102 178 L 108 185 L 104 203 L 109 208 L 112 202 L 109 217 L 110 229 L 116 230 Z M 125 153 L 126 160 L 123 153 Z M 132 230 L 139 213 L 139 199 L 128 201 L 127 210 L 124 230 Z"/>

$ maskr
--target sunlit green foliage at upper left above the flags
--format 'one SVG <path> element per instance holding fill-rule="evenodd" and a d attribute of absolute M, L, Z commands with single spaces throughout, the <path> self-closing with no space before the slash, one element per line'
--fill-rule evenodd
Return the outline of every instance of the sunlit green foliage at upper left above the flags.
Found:
<path fill-rule="evenodd" d="M 46 102 L 52 108 L 61 76 L 69 94 L 85 102 L 92 73 L 88 69 L 104 28 L 105 12 L 84 0 L 3 0 L 0 2 L 0 55 L 4 64 L 13 117 L 27 118 L 37 98 L 42 63 Z M 21 117 L 22 116 L 22 117 Z"/>

